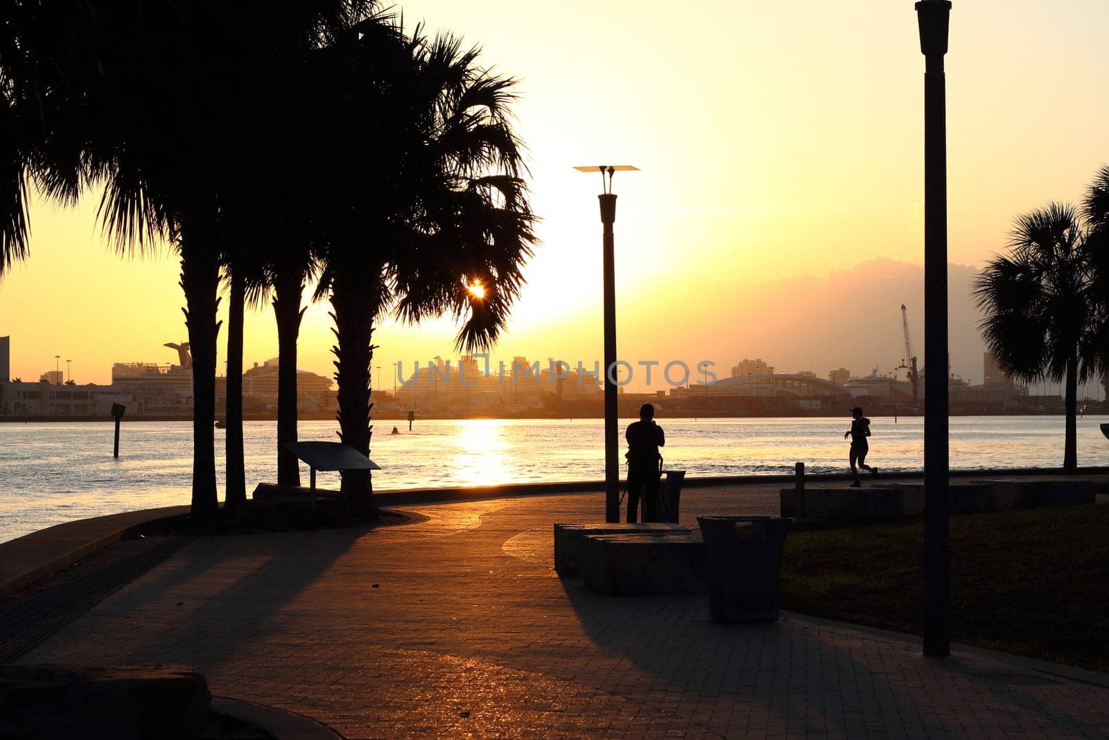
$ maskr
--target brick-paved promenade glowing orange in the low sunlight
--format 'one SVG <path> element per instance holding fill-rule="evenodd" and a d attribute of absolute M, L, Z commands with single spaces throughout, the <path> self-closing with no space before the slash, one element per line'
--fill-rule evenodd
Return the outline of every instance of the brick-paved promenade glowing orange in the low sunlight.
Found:
<path fill-rule="evenodd" d="M 693 489 L 683 519 L 776 501 Z M 1109 737 L 1105 686 L 563 581 L 551 525 L 602 518 L 597 494 L 406 508 L 426 518 L 194 540 L 20 662 L 183 662 L 348 738 Z"/>

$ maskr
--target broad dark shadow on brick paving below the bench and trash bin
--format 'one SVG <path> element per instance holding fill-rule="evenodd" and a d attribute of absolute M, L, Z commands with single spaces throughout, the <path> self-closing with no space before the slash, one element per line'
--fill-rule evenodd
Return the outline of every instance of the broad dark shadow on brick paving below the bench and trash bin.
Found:
<path fill-rule="evenodd" d="M 944 717 L 942 709 L 937 713 L 933 701 L 937 692 L 950 698 L 952 691 L 958 696 L 970 689 L 979 701 L 1019 707 L 1037 721 L 1093 736 L 1101 731 L 989 681 L 965 661 L 925 658 L 917 646 L 891 645 L 792 615 L 775 622 L 716 624 L 709 618 L 708 596 L 615 597 L 588 590 L 579 579 L 561 582 L 599 650 L 659 679 L 651 686 L 660 688 L 644 698 L 663 708 L 674 690 L 692 691 L 683 702 L 700 704 L 702 716 L 706 707 L 723 703 L 747 711 L 756 722 L 776 718 L 791 733 L 916 736 L 960 731 L 959 718 Z M 891 650 L 901 655 L 892 657 Z M 708 729 L 720 731 L 712 721 Z"/>

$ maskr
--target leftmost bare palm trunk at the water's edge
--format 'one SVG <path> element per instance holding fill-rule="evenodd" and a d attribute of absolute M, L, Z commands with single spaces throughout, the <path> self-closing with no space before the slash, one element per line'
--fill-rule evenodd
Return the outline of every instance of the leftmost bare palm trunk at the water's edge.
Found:
<path fill-rule="evenodd" d="M 215 486 L 215 363 L 220 263 L 204 250 L 181 241 L 181 288 L 185 292 L 185 325 L 193 356 L 193 500 L 191 520 L 199 529 L 213 527 L 220 514 Z"/>

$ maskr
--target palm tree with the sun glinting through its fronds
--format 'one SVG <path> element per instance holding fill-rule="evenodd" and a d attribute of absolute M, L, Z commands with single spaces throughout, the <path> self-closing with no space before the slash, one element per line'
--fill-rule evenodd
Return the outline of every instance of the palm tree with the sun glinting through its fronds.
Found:
<path fill-rule="evenodd" d="M 374 323 L 390 310 L 410 324 L 449 313 L 462 321 L 459 348 L 488 348 L 536 239 L 509 121 L 513 81 L 450 37 L 408 40 L 391 19 L 358 30 L 364 108 L 328 116 L 354 120 L 359 135 L 329 136 L 343 150 L 328 161 L 347 166 L 328 179 L 317 295 L 335 322 L 339 436 L 368 454 Z M 373 513 L 368 474 L 344 474 L 343 489 Z"/>

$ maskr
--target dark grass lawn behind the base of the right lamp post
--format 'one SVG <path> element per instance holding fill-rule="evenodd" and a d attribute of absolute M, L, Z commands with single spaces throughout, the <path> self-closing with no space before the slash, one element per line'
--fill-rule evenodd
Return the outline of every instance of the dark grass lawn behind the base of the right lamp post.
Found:
<path fill-rule="evenodd" d="M 782 607 L 920 633 L 924 523 L 785 540 Z M 952 641 L 1109 672 L 1109 506 L 950 520 Z"/>

